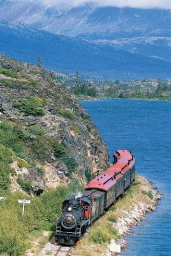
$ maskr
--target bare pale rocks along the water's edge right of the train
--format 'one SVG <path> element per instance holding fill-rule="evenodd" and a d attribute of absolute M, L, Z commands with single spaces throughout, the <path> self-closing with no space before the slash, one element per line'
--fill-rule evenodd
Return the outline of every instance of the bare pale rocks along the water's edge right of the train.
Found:
<path fill-rule="evenodd" d="M 138 176 L 138 181 L 141 184 L 141 189 L 144 191 L 151 191 L 152 198 L 147 196 L 145 202 L 138 202 L 138 204 L 130 205 L 128 210 L 123 210 L 123 216 L 114 223 L 113 227 L 117 229 L 118 234 L 122 237 L 121 239 L 112 239 L 111 243 L 108 245 L 108 252 L 105 256 L 114 256 L 121 253 L 121 249 L 128 248 L 128 244 L 124 240 L 124 236 L 131 234 L 131 227 L 138 225 L 140 221 L 145 220 L 145 214 L 155 211 L 158 205 L 158 200 L 162 198 L 161 193 L 156 191 L 151 184 L 151 182 L 144 177 Z M 135 197 L 138 198 L 138 195 Z M 120 254 L 121 255 L 121 254 Z"/>

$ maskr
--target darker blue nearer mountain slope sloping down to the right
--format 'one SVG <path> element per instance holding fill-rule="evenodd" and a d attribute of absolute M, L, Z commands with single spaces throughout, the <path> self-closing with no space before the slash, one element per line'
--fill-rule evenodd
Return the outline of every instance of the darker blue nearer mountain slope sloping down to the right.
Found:
<path fill-rule="evenodd" d="M 78 70 L 100 79 L 168 78 L 171 63 L 85 40 L 54 35 L 16 22 L 0 22 L 0 52 L 36 63 L 41 49 L 43 67 L 60 72 Z"/>

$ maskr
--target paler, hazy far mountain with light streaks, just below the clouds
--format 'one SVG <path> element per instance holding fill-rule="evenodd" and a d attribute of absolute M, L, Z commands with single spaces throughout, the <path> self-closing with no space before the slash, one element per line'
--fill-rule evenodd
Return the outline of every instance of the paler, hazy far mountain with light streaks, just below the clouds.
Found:
<path fill-rule="evenodd" d="M 170 37 L 171 30 L 170 10 L 100 7 L 91 2 L 61 8 L 59 4 L 51 6 L 38 0 L 1 0 L 0 19 L 17 20 L 51 33 L 89 39 Z"/>

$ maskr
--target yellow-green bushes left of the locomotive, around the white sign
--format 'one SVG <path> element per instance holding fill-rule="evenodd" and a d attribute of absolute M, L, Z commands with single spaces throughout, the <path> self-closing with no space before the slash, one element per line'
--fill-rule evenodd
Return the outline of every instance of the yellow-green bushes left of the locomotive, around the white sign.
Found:
<path fill-rule="evenodd" d="M 0 255 L 7 253 L 10 256 L 22 256 L 31 247 L 31 238 L 36 233 L 41 236 L 43 230 L 54 231 L 63 200 L 79 188 L 80 185 L 75 181 L 68 188 L 58 186 L 36 198 L 1 190 L 0 195 L 6 199 L 0 200 Z M 31 200 L 31 204 L 25 205 L 24 216 L 19 199 Z"/>

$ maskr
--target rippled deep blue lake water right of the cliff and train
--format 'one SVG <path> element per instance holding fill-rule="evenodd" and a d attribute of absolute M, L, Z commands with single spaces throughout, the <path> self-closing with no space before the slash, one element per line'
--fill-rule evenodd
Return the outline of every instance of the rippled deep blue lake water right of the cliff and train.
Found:
<path fill-rule="evenodd" d="M 163 194 L 156 211 L 124 237 L 122 256 L 171 256 L 171 102 L 101 99 L 81 102 L 107 144 L 131 150 L 138 175 Z"/>

